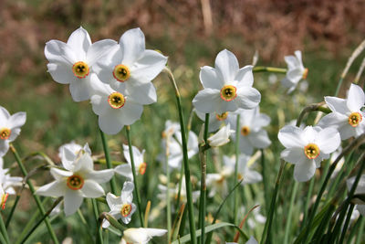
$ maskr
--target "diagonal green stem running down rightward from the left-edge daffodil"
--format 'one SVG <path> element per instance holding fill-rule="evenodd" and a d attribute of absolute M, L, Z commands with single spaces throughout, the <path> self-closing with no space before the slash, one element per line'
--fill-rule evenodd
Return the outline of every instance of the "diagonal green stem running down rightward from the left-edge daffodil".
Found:
<path fill-rule="evenodd" d="M 19 168 L 22 171 L 22 174 L 24 175 L 24 177 L 26 177 L 26 175 L 27 175 L 26 167 L 23 165 L 19 154 L 17 154 L 17 152 L 16 152 L 16 148 L 14 147 L 14 145 L 12 143 L 10 144 L 10 150 L 13 152 L 14 156 L 16 157 L 16 162 L 19 165 Z M 32 196 L 34 197 L 34 199 L 36 201 L 36 206 L 38 207 L 41 215 L 44 216 L 46 214 L 45 208 L 43 207 L 42 203 L 40 202 L 39 197 L 35 195 L 36 190 L 35 190 L 32 182 L 29 179 L 26 179 L 26 184 L 29 186 L 29 190 L 32 193 Z M 46 226 L 47 226 L 49 235 L 51 236 L 51 239 L 53 240 L 53 242 L 55 242 L 55 244 L 58 244 L 58 240 L 57 240 L 55 231 L 53 231 L 49 218 L 46 217 L 44 221 L 46 223 Z"/>

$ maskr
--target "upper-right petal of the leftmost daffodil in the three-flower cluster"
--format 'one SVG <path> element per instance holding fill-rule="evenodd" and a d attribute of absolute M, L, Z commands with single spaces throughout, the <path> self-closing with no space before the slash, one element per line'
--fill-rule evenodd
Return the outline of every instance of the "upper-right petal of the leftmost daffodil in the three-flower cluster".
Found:
<path fill-rule="evenodd" d="M 93 43 L 86 54 L 89 66 L 99 61 L 100 58 L 104 58 L 103 56 L 108 55 L 110 48 L 114 46 L 118 46 L 118 44 L 111 39 L 99 40 Z"/>

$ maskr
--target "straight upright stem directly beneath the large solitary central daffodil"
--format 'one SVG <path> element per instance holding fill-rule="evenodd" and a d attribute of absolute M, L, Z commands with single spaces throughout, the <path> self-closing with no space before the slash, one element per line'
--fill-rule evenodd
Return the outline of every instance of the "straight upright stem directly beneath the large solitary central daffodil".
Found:
<path fill-rule="evenodd" d="M 199 220 L 200 229 L 202 229 L 202 235 L 198 243 L 204 243 L 204 235 L 205 235 L 205 205 L 206 205 L 206 150 L 203 150 L 204 144 L 208 142 L 208 132 L 209 132 L 209 113 L 205 113 L 205 122 L 204 122 L 204 142 L 199 147 L 199 155 L 201 162 L 201 182 L 200 182 L 200 207 L 199 207 Z"/>

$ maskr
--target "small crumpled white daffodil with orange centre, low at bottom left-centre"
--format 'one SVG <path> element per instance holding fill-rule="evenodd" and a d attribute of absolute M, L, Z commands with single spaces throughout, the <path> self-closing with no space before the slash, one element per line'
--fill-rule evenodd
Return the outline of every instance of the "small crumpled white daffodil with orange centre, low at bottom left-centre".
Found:
<path fill-rule="evenodd" d="M 115 196 L 112 193 L 107 194 L 107 202 L 110 207 L 109 214 L 116 219 L 120 219 L 124 224 L 130 223 L 131 216 L 136 211 L 136 206 L 133 201 L 133 189 L 134 185 L 131 182 L 124 182 L 123 189 L 120 196 Z M 104 219 L 102 228 L 109 228 L 110 222 Z"/>

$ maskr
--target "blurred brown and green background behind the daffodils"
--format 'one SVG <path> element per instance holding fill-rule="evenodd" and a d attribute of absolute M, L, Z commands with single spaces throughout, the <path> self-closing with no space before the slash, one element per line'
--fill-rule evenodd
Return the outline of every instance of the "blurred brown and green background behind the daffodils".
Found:
<path fill-rule="evenodd" d="M 47 74 L 48 40 L 66 42 L 80 26 L 89 31 L 93 42 L 119 40 L 126 30 L 141 27 L 147 48 L 169 57 L 182 91 L 185 118 L 201 89 L 200 67 L 214 66 L 222 49 L 234 52 L 240 67 L 251 64 L 257 50 L 257 65 L 280 68 L 287 67 L 284 56 L 299 49 L 309 69 L 308 82 L 293 94 L 287 95 L 280 84 L 284 75 L 255 74 L 254 87 L 262 93 L 261 111 L 272 118 L 267 130 L 275 152 L 276 135 L 285 122 L 296 119 L 308 103 L 334 94 L 347 59 L 365 37 L 364 12 L 363 0 L 1 0 L 0 105 L 10 113 L 27 112 L 26 126 L 16 141 L 23 155 L 42 151 L 58 162 L 58 147 L 72 140 L 89 143 L 93 153 L 101 154 L 97 116 L 89 102 L 72 101 L 68 86 Z M 355 60 L 342 90 L 354 79 L 363 57 Z M 132 140 L 147 150 L 147 161 L 158 167 L 155 157 L 161 149 L 156 145 L 164 122 L 178 121 L 178 114 L 167 77 L 162 74 L 153 83 L 158 102 L 145 106 L 141 121 L 132 126 Z M 195 133 L 200 126 L 193 117 Z M 120 152 L 121 143 L 126 143 L 124 131 L 108 139 L 113 152 Z M 5 164 L 12 162 L 12 156 L 6 155 Z M 147 187 L 153 171 L 151 166 L 142 186 Z M 148 192 L 147 198 L 155 193 Z M 30 209 L 26 201 L 22 207 Z"/>

